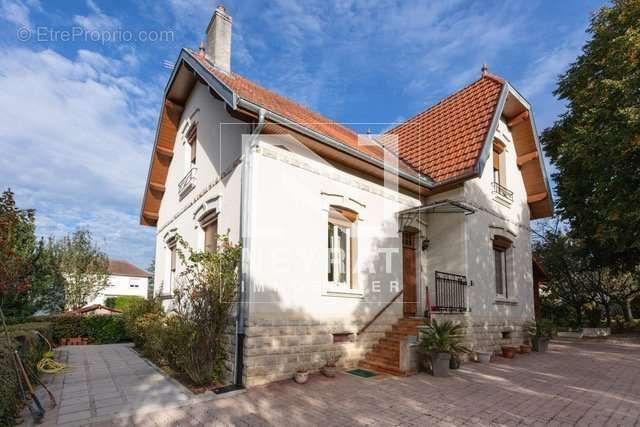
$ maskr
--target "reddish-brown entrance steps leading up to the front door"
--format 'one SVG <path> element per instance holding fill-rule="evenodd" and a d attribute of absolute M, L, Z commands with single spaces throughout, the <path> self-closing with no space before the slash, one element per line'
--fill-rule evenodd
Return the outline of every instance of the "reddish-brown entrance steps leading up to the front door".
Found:
<path fill-rule="evenodd" d="M 427 319 L 421 317 L 398 320 L 390 331 L 385 332 L 385 336 L 373 346 L 358 366 L 392 375 L 407 375 L 408 372 L 400 369 L 400 343 L 408 336 L 417 336 L 418 326 L 426 323 Z"/>

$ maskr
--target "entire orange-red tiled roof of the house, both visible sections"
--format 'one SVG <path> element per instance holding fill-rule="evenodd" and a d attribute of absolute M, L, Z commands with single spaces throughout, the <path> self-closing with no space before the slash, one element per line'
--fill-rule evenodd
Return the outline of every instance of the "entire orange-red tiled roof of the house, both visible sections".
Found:
<path fill-rule="evenodd" d="M 234 91 L 240 98 L 271 110 L 322 135 L 384 159 L 382 149 L 358 144 L 357 134 L 335 121 L 265 89 L 236 73 L 226 74 L 197 54 L 202 65 Z M 386 148 L 414 170 L 436 183 L 458 176 L 473 168 L 498 105 L 504 81 L 486 74 L 469 86 L 440 101 L 426 111 L 396 126 L 387 134 L 397 134 L 395 143 Z"/>

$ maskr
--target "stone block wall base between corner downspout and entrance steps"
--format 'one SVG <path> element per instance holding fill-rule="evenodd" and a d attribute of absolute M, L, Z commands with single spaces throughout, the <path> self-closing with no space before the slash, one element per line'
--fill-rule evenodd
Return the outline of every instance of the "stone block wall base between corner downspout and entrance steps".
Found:
<path fill-rule="evenodd" d="M 251 319 L 245 329 L 245 384 L 255 386 L 289 379 L 298 368 L 318 371 L 328 352 L 340 352 L 341 368 L 358 361 L 402 317 L 402 304 L 393 304 L 361 335 L 359 327 L 316 320 Z M 368 319 L 363 319 L 360 325 Z M 334 342 L 333 334 L 350 333 L 347 341 Z"/>

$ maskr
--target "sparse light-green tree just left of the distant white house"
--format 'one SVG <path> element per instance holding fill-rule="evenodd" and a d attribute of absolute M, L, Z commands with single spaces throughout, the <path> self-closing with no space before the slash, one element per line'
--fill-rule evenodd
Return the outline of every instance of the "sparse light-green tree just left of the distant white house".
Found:
<path fill-rule="evenodd" d="M 107 287 L 109 259 L 93 243 L 89 230 L 77 230 L 56 244 L 64 277 L 65 307 L 82 307 Z"/>

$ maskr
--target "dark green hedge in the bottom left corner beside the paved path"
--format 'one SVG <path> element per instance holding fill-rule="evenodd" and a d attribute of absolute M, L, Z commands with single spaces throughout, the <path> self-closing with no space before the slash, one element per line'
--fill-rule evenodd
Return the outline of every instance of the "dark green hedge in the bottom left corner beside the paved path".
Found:
<path fill-rule="evenodd" d="M 47 343 L 35 331 L 48 339 L 52 336 L 52 324 L 33 322 L 8 327 L 11 343 L 7 343 L 4 331 L 0 339 L 0 425 L 13 425 L 21 407 L 18 380 L 14 370 L 13 351 L 18 349 L 28 372 L 37 372 L 36 364 L 42 354 L 49 350 Z"/>

